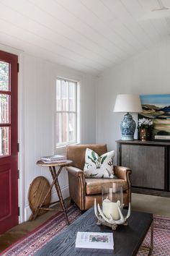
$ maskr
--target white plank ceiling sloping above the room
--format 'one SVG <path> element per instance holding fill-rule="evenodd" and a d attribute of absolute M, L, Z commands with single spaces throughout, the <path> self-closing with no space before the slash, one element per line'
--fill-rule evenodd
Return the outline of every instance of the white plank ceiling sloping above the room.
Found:
<path fill-rule="evenodd" d="M 0 0 L 0 43 L 99 74 L 169 37 L 169 0 Z"/>

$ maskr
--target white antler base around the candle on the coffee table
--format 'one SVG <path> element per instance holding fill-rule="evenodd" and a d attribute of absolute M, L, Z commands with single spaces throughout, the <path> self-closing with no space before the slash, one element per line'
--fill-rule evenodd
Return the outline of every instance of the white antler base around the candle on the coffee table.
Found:
<path fill-rule="evenodd" d="M 130 216 L 130 202 L 129 202 L 129 208 L 128 208 L 128 214 L 127 216 L 123 216 L 122 215 L 122 208 L 123 208 L 123 205 L 119 205 L 117 203 L 117 209 L 119 211 L 119 214 L 120 214 L 120 219 L 118 221 L 115 221 L 113 218 L 112 218 L 112 215 L 110 214 L 110 218 L 107 218 L 104 213 L 102 212 L 99 204 L 97 204 L 97 200 L 96 198 L 94 199 L 94 213 L 95 213 L 95 216 L 97 216 L 97 219 L 98 219 L 98 222 L 97 222 L 97 225 L 104 225 L 104 226 L 109 226 L 112 228 L 112 230 L 115 230 L 117 229 L 117 226 L 120 225 L 120 224 L 123 224 L 123 225 L 128 225 L 128 218 Z M 98 213 L 99 211 L 99 213 Z"/>

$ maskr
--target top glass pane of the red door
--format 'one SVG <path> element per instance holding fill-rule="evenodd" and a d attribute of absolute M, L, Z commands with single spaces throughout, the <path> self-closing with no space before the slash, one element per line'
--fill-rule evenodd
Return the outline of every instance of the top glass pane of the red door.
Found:
<path fill-rule="evenodd" d="M 0 61 L 0 90 L 9 90 L 9 63 Z"/>

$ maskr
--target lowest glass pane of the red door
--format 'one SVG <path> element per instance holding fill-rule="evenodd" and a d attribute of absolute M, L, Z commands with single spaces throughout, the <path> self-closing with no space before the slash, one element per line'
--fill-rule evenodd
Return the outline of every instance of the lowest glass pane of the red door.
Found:
<path fill-rule="evenodd" d="M 9 155 L 9 127 L 0 127 L 0 156 Z"/>

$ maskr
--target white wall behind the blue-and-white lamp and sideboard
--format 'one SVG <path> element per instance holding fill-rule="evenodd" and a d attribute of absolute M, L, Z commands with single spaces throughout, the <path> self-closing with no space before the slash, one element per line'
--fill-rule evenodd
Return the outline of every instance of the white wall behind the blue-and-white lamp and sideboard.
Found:
<path fill-rule="evenodd" d="M 109 150 L 116 150 L 115 140 L 120 140 L 123 118 L 123 114 L 113 113 L 117 94 L 170 93 L 169 81 L 170 40 L 104 72 L 97 80 L 97 142 L 107 143 Z M 133 116 L 136 121 L 137 114 Z"/>

